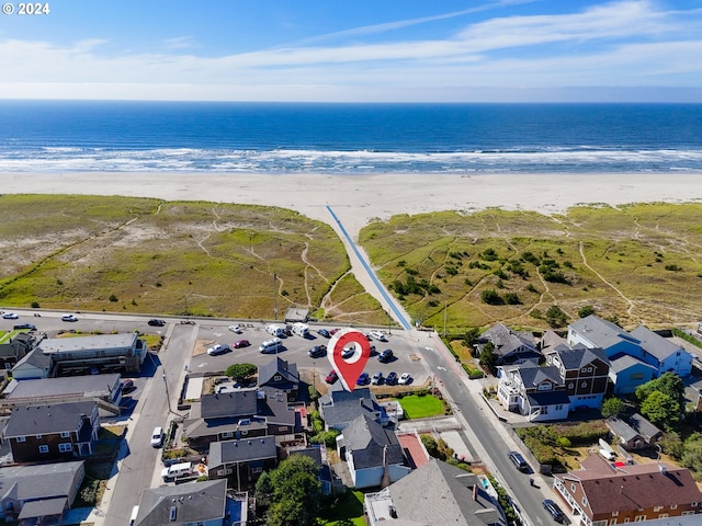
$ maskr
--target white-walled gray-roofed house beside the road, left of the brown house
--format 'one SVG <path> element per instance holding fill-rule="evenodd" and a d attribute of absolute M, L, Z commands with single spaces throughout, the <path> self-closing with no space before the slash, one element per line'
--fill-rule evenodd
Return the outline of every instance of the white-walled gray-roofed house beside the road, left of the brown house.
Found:
<path fill-rule="evenodd" d="M 497 397 L 509 411 L 531 422 L 563 420 L 568 416 L 570 398 L 558 367 L 518 364 L 500 367 Z"/>

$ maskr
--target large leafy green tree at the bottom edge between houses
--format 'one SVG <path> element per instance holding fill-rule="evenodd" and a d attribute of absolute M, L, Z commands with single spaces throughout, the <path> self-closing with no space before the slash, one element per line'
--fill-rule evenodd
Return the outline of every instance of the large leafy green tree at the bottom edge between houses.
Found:
<path fill-rule="evenodd" d="M 321 483 L 315 461 L 303 455 L 283 460 L 270 473 L 271 505 L 265 514 L 269 526 L 313 526 L 321 502 Z"/>

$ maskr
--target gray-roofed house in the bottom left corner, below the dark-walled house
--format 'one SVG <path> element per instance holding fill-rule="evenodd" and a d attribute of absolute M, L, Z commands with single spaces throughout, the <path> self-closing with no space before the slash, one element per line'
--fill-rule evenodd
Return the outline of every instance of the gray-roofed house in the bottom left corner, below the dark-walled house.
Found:
<path fill-rule="evenodd" d="M 58 521 L 86 476 L 82 460 L 0 468 L 0 519 Z"/>

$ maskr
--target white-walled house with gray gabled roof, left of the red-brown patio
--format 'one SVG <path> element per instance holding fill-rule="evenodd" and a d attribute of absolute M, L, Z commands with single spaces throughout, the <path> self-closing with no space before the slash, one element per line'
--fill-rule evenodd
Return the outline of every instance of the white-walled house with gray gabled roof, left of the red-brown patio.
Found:
<path fill-rule="evenodd" d="M 387 485 L 411 471 L 395 431 L 362 414 L 337 437 L 339 457 L 344 458 L 356 489 Z"/>

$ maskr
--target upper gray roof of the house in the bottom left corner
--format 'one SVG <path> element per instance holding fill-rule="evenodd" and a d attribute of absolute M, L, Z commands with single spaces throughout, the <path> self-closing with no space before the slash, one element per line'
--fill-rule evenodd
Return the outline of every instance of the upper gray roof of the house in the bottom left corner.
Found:
<path fill-rule="evenodd" d="M 33 501 L 68 496 L 83 461 L 11 466 L 0 468 L 0 500 Z"/>

